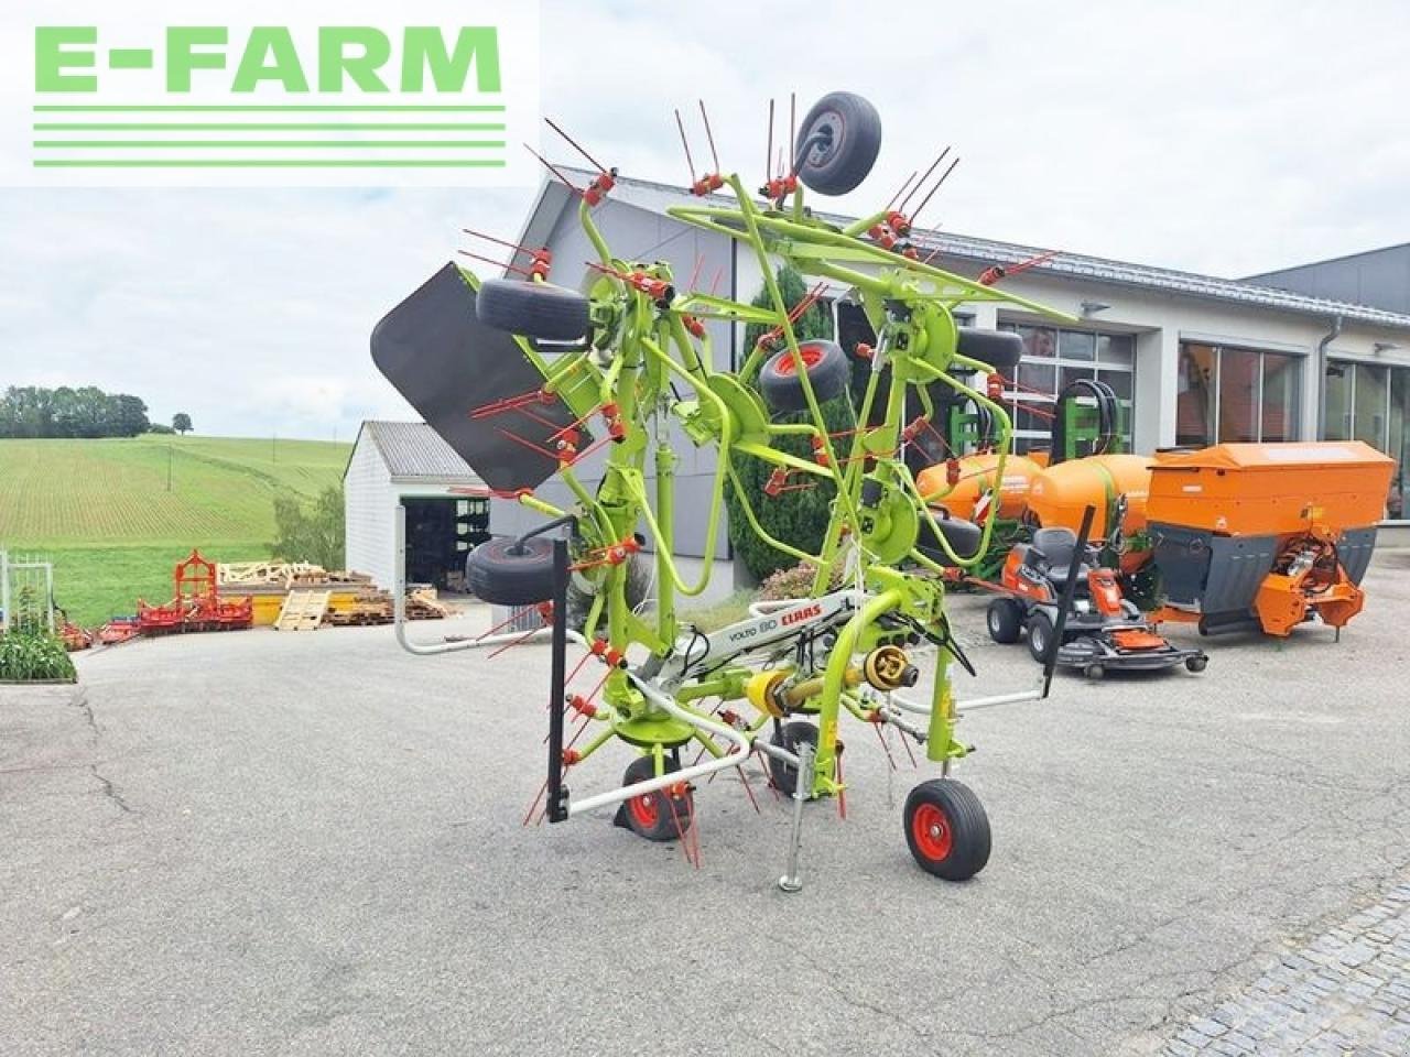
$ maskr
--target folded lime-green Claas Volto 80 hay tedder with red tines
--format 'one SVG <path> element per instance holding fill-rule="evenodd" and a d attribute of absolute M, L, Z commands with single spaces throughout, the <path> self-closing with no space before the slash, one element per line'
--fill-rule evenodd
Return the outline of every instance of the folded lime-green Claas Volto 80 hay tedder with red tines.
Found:
<path fill-rule="evenodd" d="M 739 768 L 747 789 L 744 764 L 760 760 L 776 789 L 792 796 L 780 886 L 794 891 L 802 803 L 840 798 L 846 788 L 838 738 L 846 713 L 883 736 L 895 730 L 924 746 L 939 767 L 940 777 L 916 785 L 905 802 L 904 833 L 915 861 L 952 881 L 986 865 L 986 812 L 949 777 L 952 764 L 971 750 L 956 737 L 957 713 L 1042 692 L 955 700 L 950 667 L 970 665 L 946 619 L 942 574 L 973 562 L 990 528 L 932 514 L 902 448 L 933 410 L 928 388 L 940 382 L 993 416 L 1001 475 L 1008 416 L 976 376 L 1017 362 L 1019 341 L 959 327 L 953 310 L 997 300 L 1066 317 L 921 262 L 907 242 L 909 196 L 897 203 L 900 192 L 885 209 L 846 227 L 815 217 L 804 189 L 854 189 L 871 169 L 880 137 L 870 103 L 832 93 L 804 117 L 791 159 L 757 196 L 739 176 L 721 172 L 718 159 L 704 175 L 692 166 L 691 190 L 701 202 L 675 207 L 673 216 L 747 247 L 763 273 L 767 307 L 681 288 L 661 261 L 618 258 L 594 220 L 615 171 L 596 166 L 592 183 L 574 189 L 578 220 L 596 255 L 581 293 L 547 282 L 547 251 L 515 247 L 527 261 L 516 269 L 522 280 L 481 282 L 451 264 L 378 324 L 378 368 L 494 495 L 544 517 L 525 536 L 475 548 L 467 575 L 482 599 L 537 607 L 551 627 L 492 630 L 478 640 L 433 645 L 407 643 L 398 623 L 413 653 L 499 653 L 551 638 L 548 772 L 526 822 L 540 803 L 540 817 L 548 822 L 615 805 L 619 824 L 649 840 L 684 839 L 689 854 L 695 784 Z M 794 321 L 805 306 L 784 303 L 773 278 L 778 261 L 819 280 L 812 296 L 825 283 L 864 306 L 878 340 L 870 381 L 853 402 L 862 426 L 829 433 L 821 404 L 849 393 L 850 368 L 839 345 L 798 341 Z M 737 371 L 719 371 L 711 354 L 712 321 L 761 324 L 768 333 Z M 922 402 L 922 420 L 905 421 L 908 397 Z M 776 421 L 781 413 L 790 413 L 790 421 Z M 674 469 L 681 455 L 673 448 L 673 424 L 716 454 L 705 557 L 689 579 L 674 557 Z M 807 438 L 812 457 L 781 450 L 784 437 Z M 599 481 L 589 486 L 582 464 L 594 452 Z M 759 497 L 740 482 L 740 457 L 766 461 L 781 486 L 830 489 L 830 520 L 818 552 L 766 533 L 752 506 Z M 550 476 L 565 486 L 571 503 L 554 505 L 536 492 Z M 677 616 L 677 598 L 708 586 L 725 489 L 733 489 L 752 531 L 816 568 L 816 576 L 807 596 L 756 603 L 747 619 L 705 633 Z M 629 603 L 626 583 L 630 560 L 646 550 L 653 552 L 656 598 L 654 612 L 643 614 Z M 830 588 L 838 565 L 846 569 L 843 585 Z M 570 581 L 589 599 L 585 619 L 571 626 Z M 568 657 L 570 644 L 581 650 L 580 660 Z M 935 672 L 919 691 L 916 654 L 929 647 Z M 572 689 L 582 672 L 595 682 L 591 691 Z M 570 722 L 577 723 L 571 734 Z M 572 768 L 612 741 L 636 754 L 622 785 L 570 796 Z M 694 762 L 684 758 L 688 748 L 698 753 Z"/>

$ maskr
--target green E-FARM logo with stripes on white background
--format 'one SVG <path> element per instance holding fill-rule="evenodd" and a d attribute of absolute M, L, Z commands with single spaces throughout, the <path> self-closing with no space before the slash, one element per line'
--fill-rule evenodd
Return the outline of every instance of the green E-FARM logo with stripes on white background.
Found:
<path fill-rule="evenodd" d="M 141 18 L 80 7 L 32 4 L 25 141 L 6 149 L 6 182 L 533 179 L 519 148 L 537 124 L 533 3 L 300 0 L 240 4 L 240 21 L 165 0 Z"/>

